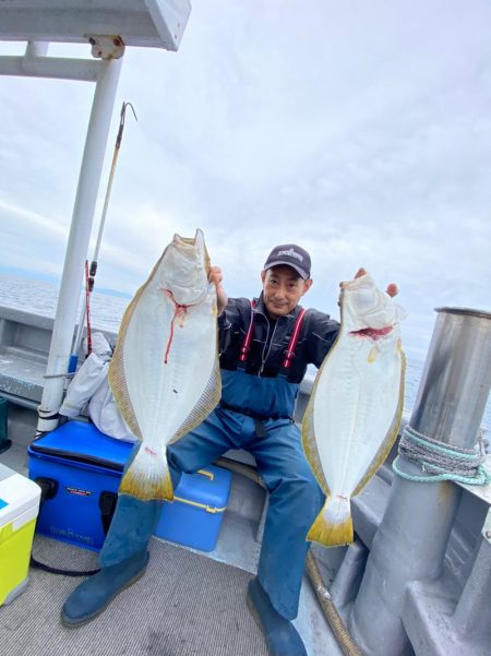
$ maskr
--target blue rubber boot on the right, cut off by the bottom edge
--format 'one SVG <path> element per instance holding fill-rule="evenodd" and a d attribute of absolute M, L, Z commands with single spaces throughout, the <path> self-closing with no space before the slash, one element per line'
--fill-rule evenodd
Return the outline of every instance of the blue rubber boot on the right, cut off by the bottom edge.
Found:
<path fill-rule="evenodd" d="M 273 608 L 258 579 L 249 583 L 248 607 L 264 633 L 271 656 L 307 656 L 294 624 Z"/>

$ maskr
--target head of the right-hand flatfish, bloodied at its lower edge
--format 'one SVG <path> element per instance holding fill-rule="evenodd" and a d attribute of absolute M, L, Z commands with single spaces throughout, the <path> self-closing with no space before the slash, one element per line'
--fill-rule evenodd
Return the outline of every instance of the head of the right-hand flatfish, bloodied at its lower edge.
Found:
<path fill-rule="evenodd" d="M 406 315 L 388 294 L 376 287 L 368 273 L 342 284 L 340 305 L 343 323 L 349 332 L 382 331 L 382 336 Z"/>

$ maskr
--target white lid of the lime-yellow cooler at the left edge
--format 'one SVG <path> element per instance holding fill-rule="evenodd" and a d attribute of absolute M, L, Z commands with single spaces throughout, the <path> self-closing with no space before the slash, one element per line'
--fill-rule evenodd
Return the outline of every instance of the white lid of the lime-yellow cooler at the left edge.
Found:
<path fill-rule="evenodd" d="M 40 487 L 0 464 L 0 528 L 39 503 Z"/>

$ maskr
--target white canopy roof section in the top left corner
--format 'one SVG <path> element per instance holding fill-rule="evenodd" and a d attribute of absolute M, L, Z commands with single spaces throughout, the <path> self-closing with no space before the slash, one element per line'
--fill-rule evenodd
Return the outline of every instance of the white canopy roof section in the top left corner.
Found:
<path fill-rule="evenodd" d="M 118 36 L 125 46 L 177 50 L 190 0 L 0 1 L 0 40 L 84 43 Z"/>

